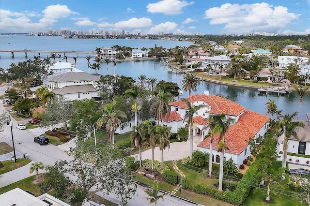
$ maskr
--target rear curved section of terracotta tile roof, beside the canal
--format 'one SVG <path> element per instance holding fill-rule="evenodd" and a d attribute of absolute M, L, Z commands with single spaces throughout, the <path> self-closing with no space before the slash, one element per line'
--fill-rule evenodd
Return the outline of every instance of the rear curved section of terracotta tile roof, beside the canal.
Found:
<path fill-rule="evenodd" d="M 216 95 L 195 94 L 187 97 L 187 99 L 190 103 L 194 103 L 196 101 L 203 101 L 207 103 L 211 106 L 211 111 L 206 112 L 216 115 L 224 113 L 226 115 L 238 116 L 246 110 L 246 108 L 240 106 L 239 103 L 235 103 Z M 187 109 L 186 103 L 181 100 L 171 103 L 171 106 Z"/>

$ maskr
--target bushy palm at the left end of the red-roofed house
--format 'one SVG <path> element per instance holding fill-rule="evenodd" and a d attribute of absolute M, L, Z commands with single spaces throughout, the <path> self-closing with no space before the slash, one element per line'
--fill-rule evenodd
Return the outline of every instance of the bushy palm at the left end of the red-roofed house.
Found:
<path fill-rule="evenodd" d="M 164 91 L 159 90 L 157 96 L 150 100 L 150 114 L 155 113 L 157 120 L 161 121 L 161 126 L 163 126 L 163 119 L 166 114 L 170 115 L 170 103 L 173 98 L 170 93 L 164 93 Z"/>

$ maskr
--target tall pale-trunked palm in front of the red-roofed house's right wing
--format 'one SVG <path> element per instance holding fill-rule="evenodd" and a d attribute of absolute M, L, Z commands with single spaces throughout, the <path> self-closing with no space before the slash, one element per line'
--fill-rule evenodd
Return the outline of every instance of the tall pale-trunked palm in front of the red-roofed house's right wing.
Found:
<path fill-rule="evenodd" d="M 222 114 L 222 117 L 217 122 L 217 125 L 214 127 L 214 134 L 219 134 L 218 141 L 218 151 L 220 151 L 220 159 L 219 159 L 219 178 L 218 178 L 218 191 L 222 191 L 223 186 L 223 166 L 224 166 L 224 152 L 227 148 L 225 143 L 225 133 L 228 131 L 228 128 L 231 124 L 234 123 L 234 119 L 225 118 L 225 115 Z"/>

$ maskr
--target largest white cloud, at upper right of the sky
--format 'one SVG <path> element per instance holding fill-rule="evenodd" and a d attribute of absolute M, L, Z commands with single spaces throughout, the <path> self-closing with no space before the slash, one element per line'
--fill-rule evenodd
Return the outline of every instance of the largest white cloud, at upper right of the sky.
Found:
<path fill-rule="evenodd" d="M 297 20 L 300 15 L 289 13 L 283 6 L 268 3 L 230 4 L 213 7 L 205 11 L 210 24 L 224 24 L 223 31 L 247 33 L 250 30 L 277 32 L 279 29 Z"/>

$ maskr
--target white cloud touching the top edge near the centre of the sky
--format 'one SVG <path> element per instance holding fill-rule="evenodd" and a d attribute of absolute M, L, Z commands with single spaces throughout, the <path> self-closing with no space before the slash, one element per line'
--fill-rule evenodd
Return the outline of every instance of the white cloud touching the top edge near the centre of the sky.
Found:
<path fill-rule="evenodd" d="M 165 15 L 178 15 L 182 13 L 183 7 L 192 5 L 195 2 L 181 0 L 161 0 L 156 3 L 149 3 L 146 8 L 150 13 L 163 13 Z"/>

